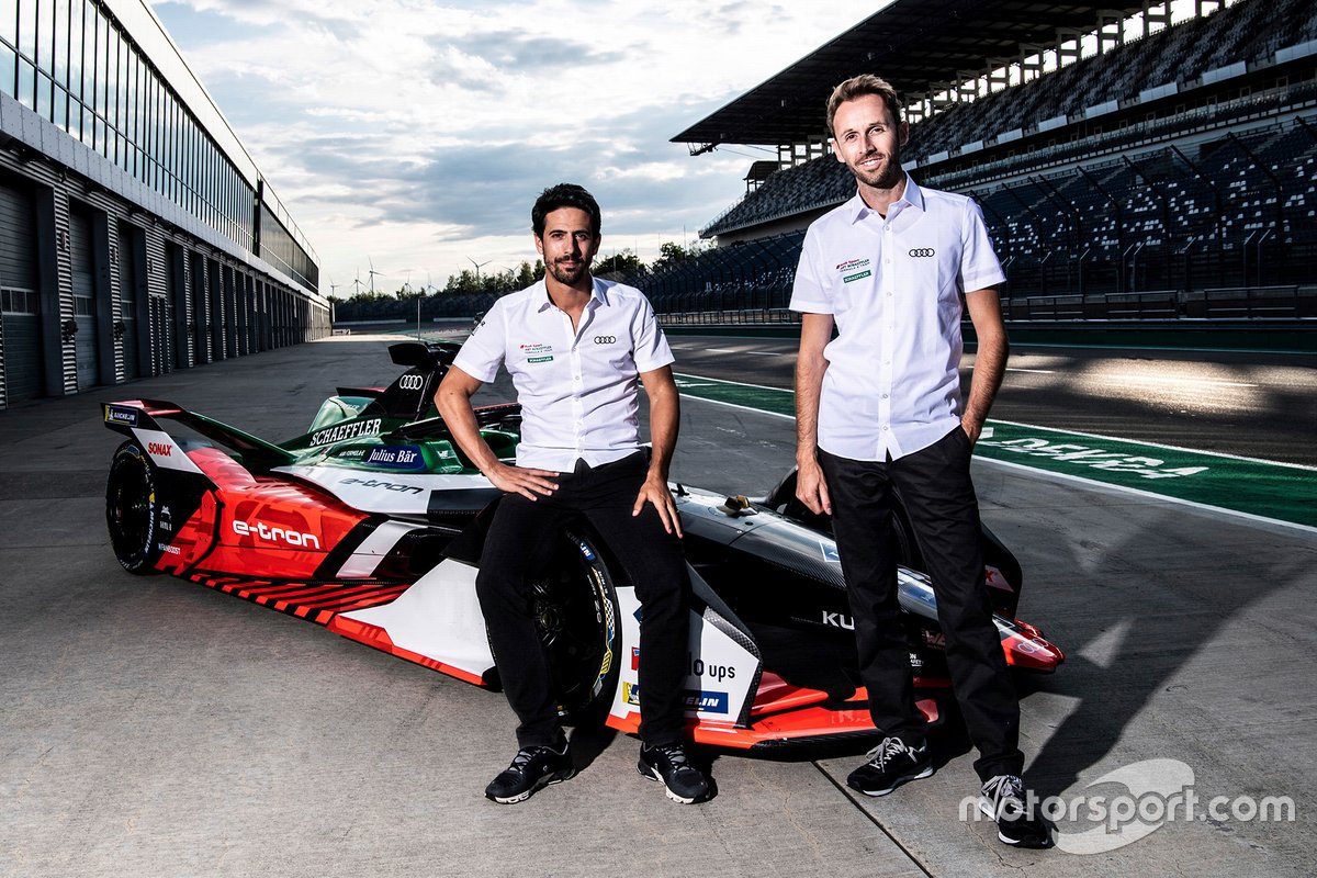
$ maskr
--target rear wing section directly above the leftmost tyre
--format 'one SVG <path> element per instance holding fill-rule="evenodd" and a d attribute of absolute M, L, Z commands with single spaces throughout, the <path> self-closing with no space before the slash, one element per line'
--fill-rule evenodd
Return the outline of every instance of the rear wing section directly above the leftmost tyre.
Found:
<path fill-rule="evenodd" d="M 108 429 L 137 440 L 155 463 L 171 470 L 199 471 L 184 452 L 187 441 L 175 438 L 166 428 L 169 421 L 182 424 L 232 452 L 249 470 L 265 471 L 296 461 L 296 454 L 278 445 L 165 400 L 101 403 L 101 413 Z"/>

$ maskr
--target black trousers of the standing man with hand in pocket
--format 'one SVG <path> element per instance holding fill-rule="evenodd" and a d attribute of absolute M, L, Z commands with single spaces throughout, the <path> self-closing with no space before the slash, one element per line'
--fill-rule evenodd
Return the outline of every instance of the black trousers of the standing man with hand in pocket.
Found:
<path fill-rule="evenodd" d="M 832 529 L 873 724 L 907 742 L 923 738 L 897 603 L 892 550 L 892 492 L 897 488 L 932 578 L 952 688 L 980 753 L 975 771 L 986 781 L 996 774 L 1019 774 L 1025 757 L 1019 752 L 1019 700 L 988 600 L 971 452 L 969 437 L 957 425 L 931 446 L 900 459 L 852 461 L 820 450 L 819 462 L 832 499 Z"/>

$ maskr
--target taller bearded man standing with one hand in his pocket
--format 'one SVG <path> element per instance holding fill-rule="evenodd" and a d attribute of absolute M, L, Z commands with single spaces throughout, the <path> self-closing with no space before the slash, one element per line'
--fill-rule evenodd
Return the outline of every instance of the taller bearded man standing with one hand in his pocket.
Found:
<path fill-rule="evenodd" d="M 909 129 L 892 86 L 872 75 L 848 79 L 828 99 L 827 120 L 857 192 L 810 226 L 795 272 L 795 457 L 797 496 L 832 516 L 860 677 L 885 736 L 847 783 L 878 796 L 932 774 L 897 603 L 892 496 L 900 491 L 932 578 L 956 700 L 979 748 L 980 808 L 1001 841 L 1050 846 L 1019 778 L 1019 703 L 992 621 L 969 478 L 1006 369 L 996 291 L 1006 278 L 979 207 L 917 186 L 901 167 Z M 963 407 L 961 296 L 979 342 Z"/>

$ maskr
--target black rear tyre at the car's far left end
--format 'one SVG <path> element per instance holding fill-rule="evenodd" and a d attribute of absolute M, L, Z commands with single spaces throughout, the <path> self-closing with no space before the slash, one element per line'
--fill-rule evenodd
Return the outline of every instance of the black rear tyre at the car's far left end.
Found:
<path fill-rule="evenodd" d="M 124 442 L 105 479 L 105 524 L 115 557 L 128 573 L 159 573 L 159 512 L 155 466 L 136 442 Z"/>

